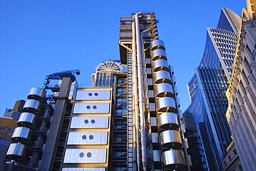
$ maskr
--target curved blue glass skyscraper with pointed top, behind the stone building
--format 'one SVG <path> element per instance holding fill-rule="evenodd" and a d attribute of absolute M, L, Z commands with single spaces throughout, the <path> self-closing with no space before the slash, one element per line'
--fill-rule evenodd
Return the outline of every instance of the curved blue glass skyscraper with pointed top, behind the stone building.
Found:
<path fill-rule="evenodd" d="M 221 9 L 217 28 L 207 28 L 205 51 L 188 83 L 191 104 L 183 113 L 192 170 L 221 170 L 232 141 L 226 89 L 232 75 L 241 18 Z"/>

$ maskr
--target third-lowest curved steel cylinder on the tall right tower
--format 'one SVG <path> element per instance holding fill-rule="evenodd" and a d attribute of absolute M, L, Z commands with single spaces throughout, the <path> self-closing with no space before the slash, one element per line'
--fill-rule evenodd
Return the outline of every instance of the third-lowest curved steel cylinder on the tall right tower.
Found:
<path fill-rule="evenodd" d="M 159 127 L 162 130 L 179 129 L 178 117 L 174 113 L 163 113 L 158 118 Z"/>

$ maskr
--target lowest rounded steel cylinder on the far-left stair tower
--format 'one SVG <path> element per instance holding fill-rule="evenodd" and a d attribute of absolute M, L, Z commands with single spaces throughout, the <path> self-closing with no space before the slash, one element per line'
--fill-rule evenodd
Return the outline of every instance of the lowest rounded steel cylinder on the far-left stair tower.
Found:
<path fill-rule="evenodd" d="M 10 147 L 6 153 L 6 158 L 12 160 L 22 160 L 26 154 L 27 146 L 18 143 L 11 143 Z"/>

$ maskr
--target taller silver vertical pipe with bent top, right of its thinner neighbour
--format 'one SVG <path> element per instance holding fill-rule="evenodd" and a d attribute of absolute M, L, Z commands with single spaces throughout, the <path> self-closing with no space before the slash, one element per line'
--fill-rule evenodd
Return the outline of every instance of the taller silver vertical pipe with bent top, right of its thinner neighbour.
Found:
<path fill-rule="evenodd" d="M 145 101 L 144 101 L 144 87 L 143 87 L 143 64 L 141 53 L 141 36 L 140 36 L 140 21 L 139 16 L 143 15 L 142 12 L 137 12 L 135 15 L 136 23 L 136 52 L 137 52 L 137 65 L 138 65 L 138 95 L 139 95 L 139 108 L 140 108 L 140 131 L 141 131 L 141 153 L 143 161 L 143 170 L 147 170 L 147 150 L 146 150 L 146 134 L 145 134 Z"/>

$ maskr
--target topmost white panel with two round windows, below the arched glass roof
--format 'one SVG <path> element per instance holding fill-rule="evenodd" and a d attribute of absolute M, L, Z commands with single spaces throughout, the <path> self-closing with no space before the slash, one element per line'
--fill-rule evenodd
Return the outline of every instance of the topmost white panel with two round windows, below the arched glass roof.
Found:
<path fill-rule="evenodd" d="M 110 100 L 110 90 L 78 90 L 75 100 Z"/>

